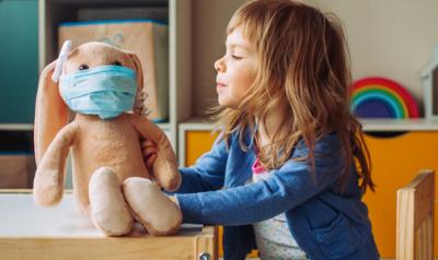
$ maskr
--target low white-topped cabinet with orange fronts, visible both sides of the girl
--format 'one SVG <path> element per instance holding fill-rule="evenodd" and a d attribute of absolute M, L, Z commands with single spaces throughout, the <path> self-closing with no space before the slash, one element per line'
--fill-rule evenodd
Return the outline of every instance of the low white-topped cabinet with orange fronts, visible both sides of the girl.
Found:
<path fill-rule="evenodd" d="M 395 258 L 396 190 L 408 184 L 419 169 L 438 169 L 438 125 L 427 120 L 366 120 L 364 126 L 377 185 L 376 192 L 367 191 L 364 202 L 369 209 L 381 257 Z M 185 142 L 184 150 L 180 149 L 181 165 L 193 165 L 209 151 L 217 137 L 211 134 L 211 129 L 210 125 L 199 122 L 181 126 L 181 141 Z M 436 218 L 436 234 L 437 228 Z M 435 249 L 438 251 L 438 239 Z"/>

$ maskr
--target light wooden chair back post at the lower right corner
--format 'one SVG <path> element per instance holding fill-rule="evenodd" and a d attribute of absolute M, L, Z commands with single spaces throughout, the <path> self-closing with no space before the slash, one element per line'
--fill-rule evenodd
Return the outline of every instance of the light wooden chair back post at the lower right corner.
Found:
<path fill-rule="evenodd" d="M 435 170 L 397 190 L 396 259 L 434 259 Z"/>

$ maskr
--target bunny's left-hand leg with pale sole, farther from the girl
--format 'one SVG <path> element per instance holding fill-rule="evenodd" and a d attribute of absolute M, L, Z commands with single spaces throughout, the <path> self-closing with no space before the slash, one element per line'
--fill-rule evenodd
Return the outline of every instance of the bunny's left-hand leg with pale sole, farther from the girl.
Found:
<path fill-rule="evenodd" d="M 108 167 L 96 169 L 89 184 L 91 221 L 106 236 L 122 236 L 132 228 L 132 216 L 117 175 Z"/>

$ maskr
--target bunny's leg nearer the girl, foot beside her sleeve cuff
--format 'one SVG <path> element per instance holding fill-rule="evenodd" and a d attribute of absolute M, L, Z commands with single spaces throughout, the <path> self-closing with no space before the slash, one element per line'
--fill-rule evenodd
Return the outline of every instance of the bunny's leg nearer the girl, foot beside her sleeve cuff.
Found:
<path fill-rule="evenodd" d="M 180 208 L 147 178 L 130 177 L 123 184 L 126 202 L 135 217 L 152 235 L 170 235 L 180 229 Z"/>

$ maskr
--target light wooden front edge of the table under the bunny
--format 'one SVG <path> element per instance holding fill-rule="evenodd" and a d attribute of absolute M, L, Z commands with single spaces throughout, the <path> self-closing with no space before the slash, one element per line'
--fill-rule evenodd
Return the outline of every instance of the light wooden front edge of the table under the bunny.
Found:
<path fill-rule="evenodd" d="M 195 259 L 192 237 L 0 238 L 1 259 Z"/>

